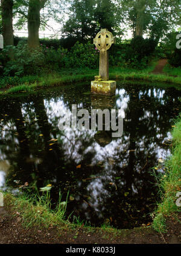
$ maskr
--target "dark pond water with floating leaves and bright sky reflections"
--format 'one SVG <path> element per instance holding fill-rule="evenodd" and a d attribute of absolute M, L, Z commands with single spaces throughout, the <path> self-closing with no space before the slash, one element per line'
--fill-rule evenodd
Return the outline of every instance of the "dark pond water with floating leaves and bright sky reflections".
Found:
<path fill-rule="evenodd" d="M 26 182 L 37 189 L 52 184 L 54 202 L 59 190 L 62 200 L 69 191 L 71 218 L 118 228 L 147 224 L 158 200 L 150 172 L 170 155 L 170 130 L 179 115 L 181 92 L 117 83 L 116 97 L 105 100 L 91 96 L 89 89 L 78 84 L 1 99 L 0 187 L 17 192 Z M 78 109 L 124 110 L 122 136 L 60 131 L 59 120 L 72 104 Z"/>

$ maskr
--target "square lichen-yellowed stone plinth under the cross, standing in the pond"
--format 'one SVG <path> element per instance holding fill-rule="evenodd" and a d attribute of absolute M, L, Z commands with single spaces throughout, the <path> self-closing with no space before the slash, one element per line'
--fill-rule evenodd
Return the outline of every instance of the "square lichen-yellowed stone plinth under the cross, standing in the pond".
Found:
<path fill-rule="evenodd" d="M 116 91 L 116 81 L 92 81 L 91 93 L 99 95 L 114 95 Z"/>

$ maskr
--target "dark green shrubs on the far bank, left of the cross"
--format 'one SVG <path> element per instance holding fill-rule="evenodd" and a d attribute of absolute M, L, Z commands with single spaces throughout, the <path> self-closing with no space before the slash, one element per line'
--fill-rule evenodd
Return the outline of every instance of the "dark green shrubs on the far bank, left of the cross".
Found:
<path fill-rule="evenodd" d="M 8 58 L 9 50 L 14 52 L 13 60 Z M 21 41 L 17 47 L 5 47 L 0 55 L 2 74 L 11 77 L 59 71 L 62 68 L 96 69 L 98 68 L 98 61 L 99 52 L 90 42 L 86 44 L 76 42 L 68 52 L 62 47 L 56 50 L 54 47 L 43 44 L 31 51 L 27 44 Z"/>

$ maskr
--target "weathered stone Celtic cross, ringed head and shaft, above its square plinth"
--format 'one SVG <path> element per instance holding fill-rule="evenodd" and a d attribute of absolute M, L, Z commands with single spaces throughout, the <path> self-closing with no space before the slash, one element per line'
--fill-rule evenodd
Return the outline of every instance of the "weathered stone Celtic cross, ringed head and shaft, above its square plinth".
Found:
<path fill-rule="evenodd" d="M 109 80 L 109 55 L 107 50 L 115 43 L 112 33 L 107 29 L 101 29 L 94 39 L 94 44 L 100 50 L 100 73 L 103 81 Z"/>

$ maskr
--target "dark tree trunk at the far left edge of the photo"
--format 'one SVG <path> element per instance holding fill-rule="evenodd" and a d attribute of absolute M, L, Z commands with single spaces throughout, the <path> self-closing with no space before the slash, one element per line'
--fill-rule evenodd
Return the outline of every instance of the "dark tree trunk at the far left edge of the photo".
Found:
<path fill-rule="evenodd" d="M 13 37 L 13 0 L 1 0 L 2 35 L 4 46 L 14 45 Z"/>

